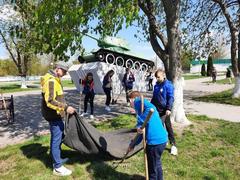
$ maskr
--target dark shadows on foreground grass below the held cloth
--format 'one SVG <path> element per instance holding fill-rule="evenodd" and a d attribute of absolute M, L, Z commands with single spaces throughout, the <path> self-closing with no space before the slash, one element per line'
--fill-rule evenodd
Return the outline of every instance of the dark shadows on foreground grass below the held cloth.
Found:
<path fill-rule="evenodd" d="M 23 154 L 29 159 L 41 161 L 46 168 L 52 168 L 52 161 L 48 150 L 49 146 L 44 146 L 40 143 L 27 144 L 20 147 Z M 80 154 L 73 150 L 62 150 L 62 157 L 68 157 L 69 161 L 66 164 L 84 164 L 90 162 L 86 170 L 93 179 L 124 179 L 124 180 L 144 180 L 141 175 L 129 175 L 127 173 L 118 172 L 114 167 L 105 163 L 110 158 L 106 155 L 86 155 Z"/>

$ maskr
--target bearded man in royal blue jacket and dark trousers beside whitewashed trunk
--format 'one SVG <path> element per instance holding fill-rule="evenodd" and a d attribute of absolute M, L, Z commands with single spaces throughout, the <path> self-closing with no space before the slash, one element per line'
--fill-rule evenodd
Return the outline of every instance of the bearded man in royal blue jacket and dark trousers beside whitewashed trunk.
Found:
<path fill-rule="evenodd" d="M 171 154 L 176 156 L 177 147 L 170 120 L 171 110 L 174 102 L 174 87 L 171 81 L 167 80 L 165 71 L 163 69 L 158 69 L 155 72 L 155 77 L 157 82 L 153 89 L 151 103 L 156 106 L 159 115 L 165 124 L 169 141 L 172 144 Z"/>

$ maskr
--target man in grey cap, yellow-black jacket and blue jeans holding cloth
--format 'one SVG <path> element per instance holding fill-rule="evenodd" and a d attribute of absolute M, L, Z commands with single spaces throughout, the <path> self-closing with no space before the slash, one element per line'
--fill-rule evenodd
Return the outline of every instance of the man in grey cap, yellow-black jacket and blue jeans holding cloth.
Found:
<path fill-rule="evenodd" d="M 49 122 L 51 132 L 50 154 L 53 160 L 53 173 L 67 176 L 71 170 L 63 166 L 68 159 L 61 158 L 61 143 L 64 132 L 63 118 L 65 113 L 73 114 L 75 109 L 68 106 L 64 100 L 61 77 L 68 71 L 68 64 L 58 62 L 54 70 L 49 70 L 41 78 L 42 87 L 42 115 Z"/>

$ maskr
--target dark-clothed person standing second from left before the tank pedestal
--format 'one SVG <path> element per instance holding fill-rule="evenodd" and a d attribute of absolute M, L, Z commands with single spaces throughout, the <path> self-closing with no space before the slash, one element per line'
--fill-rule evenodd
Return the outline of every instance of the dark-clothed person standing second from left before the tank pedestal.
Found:
<path fill-rule="evenodd" d="M 112 76 L 114 75 L 114 71 L 110 70 L 107 72 L 107 74 L 103 78 L 103 90 L 104 93 L 106 94 L 106 102 L 105 102 L 105 110 L 106 111 L 111 111 L 111 108 L 109 107 L 110 102 L 111 102 L 111 91 L 112 91 Z"/>

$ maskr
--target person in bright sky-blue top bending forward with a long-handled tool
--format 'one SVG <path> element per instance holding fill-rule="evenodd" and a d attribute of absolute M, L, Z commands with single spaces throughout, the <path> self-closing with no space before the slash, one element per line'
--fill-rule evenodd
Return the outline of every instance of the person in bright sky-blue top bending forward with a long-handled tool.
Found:
<path fill-rule="evenodd" d="M 168 141 L 167 131 L 163 127 L 161 118 L 157 112 L 156 107 L 148 100 L 141 100 L 141 94 L 138 91 L 132 91 L 129 94 L 130 105 L 133 107 L 137 114 L 137 132 L 142 134 L 141 125 L 144 123 L 150 109 L 154 109 L 154 112 L 146 125 L 146 154 L 148 160 L 148 175 L 150 180 L 162 180 L 163 171 L 161 163 L 161 155 L 166 147 Z M 142 108 L 143 103 L 143 108 Z M 129 145 L 129 151 L 131 151 L 135 145 L 139 144 L 142 140 L 142 135 L 138 138 L 137 142 L 131 142 Z"/>

